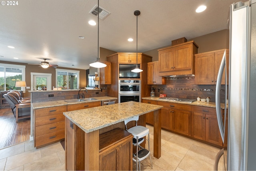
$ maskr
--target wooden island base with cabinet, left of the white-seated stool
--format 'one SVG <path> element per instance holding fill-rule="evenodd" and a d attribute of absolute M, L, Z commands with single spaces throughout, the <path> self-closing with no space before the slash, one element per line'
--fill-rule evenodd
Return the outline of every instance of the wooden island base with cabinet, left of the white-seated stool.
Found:
<path fill-rule="evenodd" d="M 132 134 L 121 128 L 85 133 L 68 118 L 65 125 L 65 170 L 132 170 Z M 91 156 L 94 150 L 99 153 Z"/>

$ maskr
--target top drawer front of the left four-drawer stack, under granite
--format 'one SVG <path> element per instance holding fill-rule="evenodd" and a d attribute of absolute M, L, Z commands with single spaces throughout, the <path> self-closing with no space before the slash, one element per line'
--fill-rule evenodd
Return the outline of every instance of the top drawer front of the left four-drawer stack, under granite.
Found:
<path fill-rule="evenodd" d="M 67 111 L 67 106 L 56 106 L 56 107 L 46 107 L 42 109 L 35 109 L 36 117 L 46 116 L 46 115 L 53 115 L 56 113 L 63 113 Z"/>

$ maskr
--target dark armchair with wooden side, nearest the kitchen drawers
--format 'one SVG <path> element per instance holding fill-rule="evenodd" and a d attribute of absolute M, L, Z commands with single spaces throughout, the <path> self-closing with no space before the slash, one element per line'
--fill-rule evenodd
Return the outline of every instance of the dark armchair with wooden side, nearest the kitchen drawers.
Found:
<path fill-rule="evenodd" d="M 10 92 L 7 94 L 4 94 L 3 97 L 9 103 L 12 109 L 13 115 L 14 117 L 16 117 L 16 122 L 18 122 L 19 119 L 30 118 L 30 108 L 31 108 L 30 102 L 28 101 L 21 102 Z"/>

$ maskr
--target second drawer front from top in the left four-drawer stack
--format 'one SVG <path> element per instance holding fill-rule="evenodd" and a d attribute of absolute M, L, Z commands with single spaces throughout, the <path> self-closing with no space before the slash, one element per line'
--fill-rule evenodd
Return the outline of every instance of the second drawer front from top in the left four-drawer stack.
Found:
<path fill-rule="evenodd" d="M 63 113 L 55 114 L 55 115 L 47 115 L 42 117 L 36 117 L 35 119 L 35 125 L 36 127 L 41 125 L 46 125 L 50 123 L 56 123 L 60 121 L 65 121 L 65 116 Z"/>

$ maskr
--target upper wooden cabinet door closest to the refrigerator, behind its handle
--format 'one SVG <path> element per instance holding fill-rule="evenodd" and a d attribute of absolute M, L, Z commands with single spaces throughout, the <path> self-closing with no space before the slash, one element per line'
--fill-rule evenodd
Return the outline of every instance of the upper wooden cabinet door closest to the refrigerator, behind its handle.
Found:
<path fill-rule="evenodd" d="M 220 63 L 222 60 L 224 54 L 224 50 L 219 51 L 219 52 L 215 52 L 214 56 L 215 56 L 215 70 L 214 70 L 214 82 L 216 84 L 217 82 L 217 76 L 218 76 L 218 71 L 220 68 Z M 226 50 L 226 66 L 229 66 L 229 50 Z M 224 68 L 225 70 L 225 68 Z M 228 83 L 228 74 L 229 74 L 229 70 L 227 68 L 227 83 Z M 222 80 L 221 80 L 221 84 L 225 84 L 225 73 L 223 73 L 222 75 Z"/>

